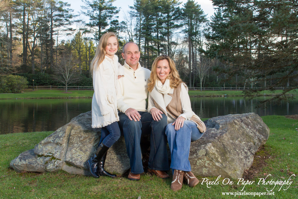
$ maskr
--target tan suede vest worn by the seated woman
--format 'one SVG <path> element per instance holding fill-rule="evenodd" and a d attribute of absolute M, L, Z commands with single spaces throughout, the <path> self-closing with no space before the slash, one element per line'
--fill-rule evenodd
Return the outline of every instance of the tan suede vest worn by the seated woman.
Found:
<path fill-rule="evenodd" d="M 187 87 L 185 87 L 186 90 L 188 90 Z M 181 92 L 181 84 L 177 86 L 177 88 L 174 89 L 173 94 L 168 94 L 172 97 L 172 100 L 166 107 L 166 111 L 170 113 L 173 118 L 178 118 L 179 115 L 183 113 L 182 107 L 181 107 L 181 101 L 180 101 L 180 92 Z M 157 105 L 156 102 L 154 102 L 155 105 Z M 193 117 L 190 119 L 190 121 L 193 121 L 195 124 L 197 124 L 197 127 L 200 132 L 205 132 L 206 131 L 206 126 L 204 122 L 200 120 L 200 118 L 193 113 Z"/>

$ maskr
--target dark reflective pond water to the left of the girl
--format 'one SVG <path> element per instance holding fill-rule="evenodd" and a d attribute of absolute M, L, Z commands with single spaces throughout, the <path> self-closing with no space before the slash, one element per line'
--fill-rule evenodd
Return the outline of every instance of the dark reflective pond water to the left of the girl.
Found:
<path fill-rule="evenodd" d="M 1 100 L 0 134 L 57 130 L 80 113 L 90 111 L 91 100 Z"/>

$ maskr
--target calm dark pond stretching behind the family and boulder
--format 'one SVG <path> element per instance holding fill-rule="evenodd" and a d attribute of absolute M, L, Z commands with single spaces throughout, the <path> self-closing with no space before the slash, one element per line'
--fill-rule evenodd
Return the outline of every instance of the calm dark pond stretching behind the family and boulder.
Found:
<path fill-rule="evenodd" d="M 263 115 L 293 115 L 298 112 L 298 100 L 255 108 L 258 99 L 243 97 L 193 97 L 193 111 L 200 118 L 255 112 Z M 55 131 L 80 113 L 91 110 L 90 98 L 0 100 L 0 134 L 15 132 Z"/>

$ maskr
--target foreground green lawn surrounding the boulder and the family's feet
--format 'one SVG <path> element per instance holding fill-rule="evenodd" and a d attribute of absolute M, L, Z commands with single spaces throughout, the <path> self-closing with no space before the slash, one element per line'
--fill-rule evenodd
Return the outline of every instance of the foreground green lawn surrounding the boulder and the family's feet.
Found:
<path fill-rule="evenodd" d="M 266 192 L 274 185 L 258 185 L 258 178 L 267 180 L 288 180 L 294 173 L 298 174 L 297 120 L 287 119 L 284 116 L 264 116 L 263 121 L 270 128 L 270 136 L 265 147 L 257 152 L 254 159 L 254 170 L 250 169 L 252 185 L 246 185 L 243 192 Z M 162 180 L 147 173 L 141 175 L 140 181 L 129 181 L 119 176 L 116 179 L 100 177 L 99 179 L 80 175 L 58 173 L 16 173 L 9 168 L 9 163 L 21 152 L 34 146 L 52 132 L 14 133 L 0 135 L 0 198 L 234 198 L 223 196 L 221 192 L 240 192 L 243 185 L 211 185 L 200 183 L 195 188 L 183 185 L 178 192 L 170 189 L 171 179 Z M 265 157 L 266 158 L 263 158 Z M 263 166 L 260 168 L 260 164 Z M 293 178 L 293 177 L 292 177 Z M 215 181 L 216 178 L 208 178 Z M 274 196 L 260 198 L 297 198 L 298 178 L 293 183 L 278 192 L 280 186 L 274 188 Z M 231 179 L 232 180 L 232 179 Z M 219 182 L 222 182 L 220 179 Z M 252 196 L 237 196 L 237 198 L 252 198 Z"/>

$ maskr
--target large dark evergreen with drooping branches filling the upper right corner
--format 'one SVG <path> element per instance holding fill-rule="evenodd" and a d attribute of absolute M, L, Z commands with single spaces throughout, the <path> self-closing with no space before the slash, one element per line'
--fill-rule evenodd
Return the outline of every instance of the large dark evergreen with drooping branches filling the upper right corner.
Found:
<path fill-rule="evenodd" d="M 282 99 L 286 92 L 297 88 L 298 1 L 213 0 L 213 3 L 223 11 L 223 17 L 211 24 L 212 44 L 207 54 L 225 62 L 221 72 L 227 78 L 239 74 L 245 82 L 258 82 L 261 88 L 247 95 L 289 86 L 274 97 Z"/>

